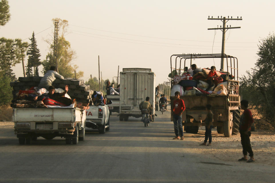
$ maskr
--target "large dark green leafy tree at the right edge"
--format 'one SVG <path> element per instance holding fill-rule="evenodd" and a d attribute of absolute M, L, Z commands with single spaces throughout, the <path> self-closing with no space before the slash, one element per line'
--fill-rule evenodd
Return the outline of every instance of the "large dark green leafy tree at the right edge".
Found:
<path fill-rule="evenodd" d="M 275 35 L 269 34 L 258 45 L 256 67 L 241 77 L 240 92 L 265 120 L 275 120 Z"/>

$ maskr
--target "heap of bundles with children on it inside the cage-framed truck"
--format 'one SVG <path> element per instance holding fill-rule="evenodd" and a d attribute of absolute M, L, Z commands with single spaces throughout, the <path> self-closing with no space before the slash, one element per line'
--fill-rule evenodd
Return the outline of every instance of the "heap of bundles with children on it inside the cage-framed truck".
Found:
<path fill-rule="evenodd" d="M 195 74 L 194 74 L 195 73 Z M 215 66 L 209 68 L 190 68 L 182 75 L 173 77 L 173 87 L 171 96 L 176 91 L 180 92 L 181 96 L 192 95 L 220 95 L 228 94 L 227 80 L 233 79 L 234 76 L 228 75 L 227 72 L 216 71 Z"/>

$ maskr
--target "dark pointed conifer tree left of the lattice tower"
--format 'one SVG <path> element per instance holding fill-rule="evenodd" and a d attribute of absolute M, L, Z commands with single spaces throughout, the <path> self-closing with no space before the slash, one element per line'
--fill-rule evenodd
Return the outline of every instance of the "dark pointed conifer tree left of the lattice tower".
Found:
<path fill-rule="evenodd" d="M 41 65 L 41 61 L 39 57 L 41 54 L 39 53 L 39 49 L 37 48 L 36 39 L 34 37 L 34 32 L 32 32 L 32 38 L 30 39 L 31 43 L 29 45 L 29 49 L 27 51 L 27 55 L 29 55 L 28 65 L 26 68 L 27 75 L 32 75 L 32 67 L 34 67 L 34 76 L 39 76 L 38 66 Z"/>

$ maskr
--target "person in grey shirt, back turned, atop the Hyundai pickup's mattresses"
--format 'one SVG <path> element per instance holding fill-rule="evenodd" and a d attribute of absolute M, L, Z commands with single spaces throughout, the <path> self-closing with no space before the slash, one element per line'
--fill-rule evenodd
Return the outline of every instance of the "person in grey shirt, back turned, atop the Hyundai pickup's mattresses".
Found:
<path fill-rule="evenodd" d="M 51 66 L 50 70 L 46 72 L 46 74 L 40 80 L 38 85 L 38 89 L 46 88 L 49 90 L 49 87 L 52 85 L 56 78 L 64 79 L 64 77 L 56 72 L 56 66 Z"/>

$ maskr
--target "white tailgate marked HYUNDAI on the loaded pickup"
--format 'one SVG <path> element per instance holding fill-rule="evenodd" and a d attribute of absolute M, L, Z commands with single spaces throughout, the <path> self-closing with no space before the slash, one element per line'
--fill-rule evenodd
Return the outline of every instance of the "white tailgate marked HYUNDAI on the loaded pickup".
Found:
<path fill-rule="evenodd" d="M 74 108 L 14 108 L 13 122 L 17 121 L 74 121 Z"/>

